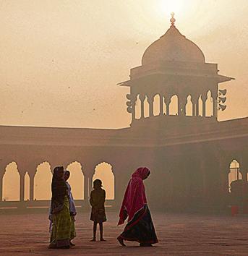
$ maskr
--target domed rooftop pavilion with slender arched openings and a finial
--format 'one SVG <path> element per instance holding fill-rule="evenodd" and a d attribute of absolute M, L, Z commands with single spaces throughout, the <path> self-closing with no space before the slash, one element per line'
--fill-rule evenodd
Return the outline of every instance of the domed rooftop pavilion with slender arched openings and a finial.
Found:
<path fill-rule="evenodd" d="M 218 74 L 218 64 L 207 63 L 201 49 L 181 35 L 175 21 L 172 14 L 171 27 L 145 50 L 142 65 L 131 69 L 130 80 L 120 83 L 130 88 L 127 111 L 132 113 L 132 125 L 140 120 L 147 124 L 144 118 L 155 116 L 155 95 L 159 97 L 158 116 L 163 116 L 163 120 L 168 120 L 166 116 L 174 116 L 170 119 L 175 121 L 179 116 L 180 120 L 184 119 L 182 116 L 217 120 L 218 84 L 233 78 Z M 177 109 L 172 114 L 171 98 L 175 96 Z M 208 97 L 212 109 L 207 116 L 205 104 Z M 148 116 L 145 116 L 145 101 L 149 104 Z M 190 103 L 189 113 L 187 103 Z M 138 104 L 140 116 L 137 118 Z"/>

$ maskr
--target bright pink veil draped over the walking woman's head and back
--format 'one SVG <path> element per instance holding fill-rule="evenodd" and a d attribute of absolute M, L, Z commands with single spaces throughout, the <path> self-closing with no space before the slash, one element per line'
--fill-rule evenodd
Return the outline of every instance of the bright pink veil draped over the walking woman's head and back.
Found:
<path fill-rule="evenodd" d="M 149 173 L 150 170 L 148 168 L 140 167 L 132 174 L 121 205 L 118 225 L 123 224 L 127 216 L 128 222 L 132 221 L 135 213 L 146 205 L 147 200 L 143 180 L 147 178 Z"/>

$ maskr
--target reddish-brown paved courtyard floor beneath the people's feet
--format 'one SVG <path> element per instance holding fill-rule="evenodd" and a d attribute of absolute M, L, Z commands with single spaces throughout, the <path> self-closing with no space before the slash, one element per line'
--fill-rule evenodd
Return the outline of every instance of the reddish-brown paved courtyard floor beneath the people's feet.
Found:
<path fill-rule="evenodd" d="M 76 247 L 48 249 L 46 214 L 1 215 L 0 255 L 248 255 L 248 216 L 153 213 L 153 221 L 159 244 L 147 248 L 127 242 L 121 247 L 116 236 L 124 226 L 116 226 L 117 213 L 108 213 L 104 224 L 107 242 L 89 242 L 89 214 L 78 213 Z"/>

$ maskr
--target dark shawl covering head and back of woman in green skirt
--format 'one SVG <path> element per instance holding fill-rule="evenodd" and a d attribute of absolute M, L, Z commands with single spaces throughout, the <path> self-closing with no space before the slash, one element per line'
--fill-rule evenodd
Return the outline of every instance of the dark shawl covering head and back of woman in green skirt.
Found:
<path fill-rule="evenodd" d="M 64 197 L 67 195 L 67 184 L 63 177 L 59 175 L 61 171 L 64 171 L 63 166 L 56 166 L 54 168 L 53 179 L 51 182 L 51 213 L 58 213 L 63 209 Z"/>

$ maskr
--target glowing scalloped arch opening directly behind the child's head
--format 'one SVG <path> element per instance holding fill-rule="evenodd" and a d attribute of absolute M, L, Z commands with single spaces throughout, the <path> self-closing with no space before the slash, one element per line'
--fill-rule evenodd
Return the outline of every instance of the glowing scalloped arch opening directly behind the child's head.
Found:
<path fill-rule="evenodd" d="M 95 166 L 95 174 L 93 175 L 93 182 L 95 179 L 101 179 L 103 182 L 103 189 L 106 190 L 106 200 L 114 200 L 114 173 L 110 163 L 102 162 Z"/>

